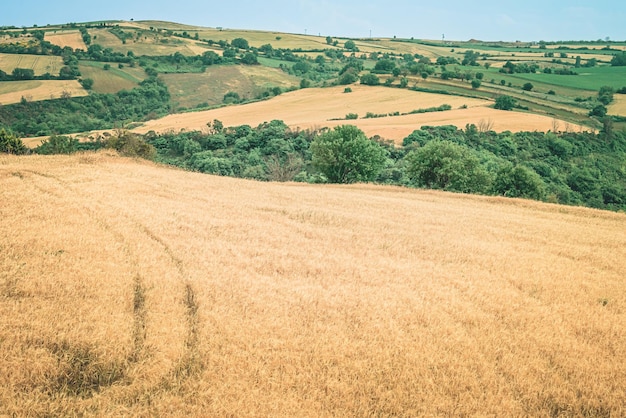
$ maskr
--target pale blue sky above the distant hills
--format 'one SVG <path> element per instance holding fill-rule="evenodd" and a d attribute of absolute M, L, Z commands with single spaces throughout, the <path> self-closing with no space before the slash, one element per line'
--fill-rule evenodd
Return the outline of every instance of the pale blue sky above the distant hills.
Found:
<path fill-rule="evenodd" d="M 0 26 L 134 19 L 352 38 L 626 41 L 623 0 L 0 1 Z"/>

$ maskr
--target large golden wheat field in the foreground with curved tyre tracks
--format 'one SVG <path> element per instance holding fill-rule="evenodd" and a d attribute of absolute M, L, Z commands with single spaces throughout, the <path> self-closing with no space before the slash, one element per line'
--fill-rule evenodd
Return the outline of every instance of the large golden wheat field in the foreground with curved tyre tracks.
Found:
<path fill-rule="evenodd" d="M 624 416 L 626 215 L 0 156 L 0 416 Z"/>

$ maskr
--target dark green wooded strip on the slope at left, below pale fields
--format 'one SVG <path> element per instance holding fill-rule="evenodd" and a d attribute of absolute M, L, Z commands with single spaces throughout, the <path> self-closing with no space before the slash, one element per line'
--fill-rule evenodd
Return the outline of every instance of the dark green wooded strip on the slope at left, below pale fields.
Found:
<path fill-rule="evenodd" d="M 117 94 L 92 94 L 71 99 L 45 100 L 0 106 L 0 127 L 19 135 L 51 135 L 107 129 L 125 121 L 167 114 L 170 95 L 156 78 Z"/>

